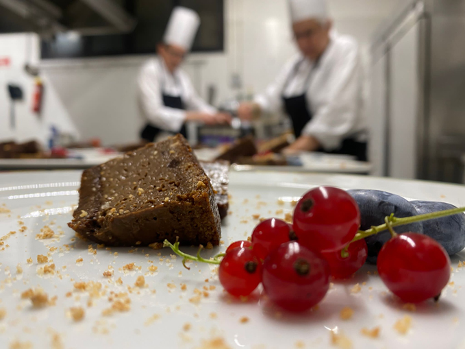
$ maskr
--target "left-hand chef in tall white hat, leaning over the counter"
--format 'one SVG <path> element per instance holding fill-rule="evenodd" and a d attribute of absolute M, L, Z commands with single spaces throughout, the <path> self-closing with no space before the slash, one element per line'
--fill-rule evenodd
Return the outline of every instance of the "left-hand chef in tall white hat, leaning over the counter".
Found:
<path fill-rule="evenodd" d="M 218 113 L 194 91 L 190 79 L 179 65 L 190 51 L 199 15 L 188 8 L 177 7 L 168 21 L 158 58 L 144 64 L 138 78 L 138 99 L 147 124 L 140 136 L 153 141 L 160 134 L 181 133 L 186 136 L 186 121 L 207 125 L 230 123 L 231 116 Z"/>

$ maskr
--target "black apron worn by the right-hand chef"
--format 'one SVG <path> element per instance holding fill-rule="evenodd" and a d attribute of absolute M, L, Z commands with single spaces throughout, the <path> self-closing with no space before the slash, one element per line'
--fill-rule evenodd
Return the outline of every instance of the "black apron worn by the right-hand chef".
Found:
<path fill-rule="evenodd" d="M 302 64 L 304 60 L 300 60 L 297 62 L 296 66 L 294 67 L 292 73 L 289 75 L 288 80 L 286 81 L 286 84 L 284 84 L 284 89 L 283 91 L 286 90 L 286 87 L 288 86 L 290 80 L 294 75 L 297 73 L 300 64 Z M 304 88 L 304 93 L 302 95 L 297 95 L 293 97 L 282 97 L 284 101 L 284 108 L 286 110 L 286 113 L 289 115 L 291 121 L 292 121 L 292 126 L 294 128 L 294 134 L 296 138 L 299 138 L 302 134 L 303 128 L 305 128 L 305 125 L 312 120 L 312 109 L 310 106 L 307 105 L 307 91 L 308 91 L 308 86 L 310 84 L 310 77 L 312 77 L 312 73 L 314 69 L 318 67 L 318 62 L 314 65 L 312 70 L 307 76 L 307 79 L 305 80 L 305 88 Z M 322 147 L 320 149 L 317 149 L 317 152 L 325 152 L 327 154 L 347 154 L 347 155 L 352 155 L 357 158 L 357 160 L 360 161 L 366 161 L 366 142 L 359 142 L 356 141 L 354 136 L 349 137 L 347 139 L 344 139 L 342 141 L 342 144 L 340 147 L 336 150 L 333 150 L 331 152 L 325 151 Z"/>

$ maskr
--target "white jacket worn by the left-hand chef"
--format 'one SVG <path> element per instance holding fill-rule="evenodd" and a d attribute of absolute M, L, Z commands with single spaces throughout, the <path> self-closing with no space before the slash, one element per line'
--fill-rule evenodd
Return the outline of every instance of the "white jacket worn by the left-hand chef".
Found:
<path fill-rule="evenodd" d="M 188 75 L 181 69 L 171 74 L 162 58 L 151 58 L 140 69 L 138 97 L 145 119 L 154 126 L 171 132 L 179 132 L 186 121 L 186 110 L 164 106 L 162 94 L 181 96 L 186 110 L 216 113 L 194 91 Z"/>

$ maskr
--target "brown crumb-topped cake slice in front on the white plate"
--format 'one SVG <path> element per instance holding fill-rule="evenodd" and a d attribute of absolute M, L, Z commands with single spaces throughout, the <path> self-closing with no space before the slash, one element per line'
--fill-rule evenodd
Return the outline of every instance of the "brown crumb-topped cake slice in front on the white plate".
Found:
<path fill-rule="evenodd" d="M 185 245 L 218 245 L 221 237 L 210 179 L 179 134 L 84 171 L 73 217 L 68 226 L 106 245 L 176 237 Z"/>

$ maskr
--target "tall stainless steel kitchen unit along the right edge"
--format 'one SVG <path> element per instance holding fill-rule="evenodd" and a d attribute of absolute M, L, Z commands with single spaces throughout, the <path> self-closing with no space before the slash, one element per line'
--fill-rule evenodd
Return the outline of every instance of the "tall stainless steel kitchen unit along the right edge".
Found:
<path fill-rule="evenodd" d="M 372 45 L 374 174 L 460 182 L 464 38 L 465 0 L 408 1 L 379 28 Z"/>

